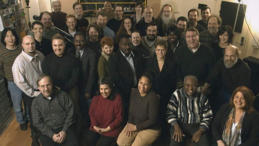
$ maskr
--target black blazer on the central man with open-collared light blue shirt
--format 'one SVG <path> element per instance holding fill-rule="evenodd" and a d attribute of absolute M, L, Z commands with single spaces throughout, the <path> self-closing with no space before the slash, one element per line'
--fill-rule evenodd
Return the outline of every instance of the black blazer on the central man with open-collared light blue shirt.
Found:
<path fill-rule="evenodd" d="M 134 63 L 134 69 L 136 73 L 137 84 L 139 77 L 145 67 L 142 65 L 143 57 L 132 50 L 134 56 L 132 60 Z M 108 59 L 108 75 L 115 84 L 115 87 L 119 90 L 119 93 L 123 97 L 125 103 L 129 102 L 131 88 L 134 88 L 134 73 L 129 65 L 129 62 L 123 56 L 120 50 L 111 55 Z"/>

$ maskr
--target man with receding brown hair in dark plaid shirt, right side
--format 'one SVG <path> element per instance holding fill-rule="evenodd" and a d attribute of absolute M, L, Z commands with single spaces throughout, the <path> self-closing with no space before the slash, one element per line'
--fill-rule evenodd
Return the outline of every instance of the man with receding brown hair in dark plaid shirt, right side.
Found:
<path fill-rule="evenodd" d="M 218 28 L 221 26 L 221 18 L 212 14 L 208 18 L 208 30 L 200 33 L 200 42 L 211 46 L 212 43 L 218 42 Z"/>

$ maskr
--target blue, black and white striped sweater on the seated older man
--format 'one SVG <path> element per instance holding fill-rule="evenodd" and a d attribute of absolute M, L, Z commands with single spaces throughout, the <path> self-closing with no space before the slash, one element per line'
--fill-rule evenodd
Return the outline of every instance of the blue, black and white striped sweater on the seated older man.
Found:
<path fill-rule="evenodd" d="M 174 126 L 178 122 L 185 124 L 200 123 L 200 129 L 209 129 L 212 122 L 212 110 L 206 95 L 196 92 L 189 97 L 184 89 L 176 90 L 167 105 L 167 122 Z"/>

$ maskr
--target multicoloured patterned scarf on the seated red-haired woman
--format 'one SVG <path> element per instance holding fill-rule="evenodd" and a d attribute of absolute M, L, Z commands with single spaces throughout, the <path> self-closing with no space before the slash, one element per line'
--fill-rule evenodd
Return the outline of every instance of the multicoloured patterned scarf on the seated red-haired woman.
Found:
<path fill-rule="evenodd" d="M 242 115 L 238 121 L 238 124 L 235 127 L 235 130 L 231 134 L 232 124 L 235 120 L 235 113 L 236 113 L 236 110 L 235 110 L 235 108 L 233 108 L 232 111 L 230 112 L 230 114 L 228 115 L 228 119 L 226 120 L 226 124 L 224 126 L 224 131 L 222 133 L 222 139 L 223 139 L 224 143 L 226 144 L 226 146 L 235 145 L 235 141 L 236 141 L 237 136 L 239 135 L 241 127 L 242 127 L 242 122 L 243 122 L 243 119 L 245 116 L 245 111 L 242 113 Z"/>

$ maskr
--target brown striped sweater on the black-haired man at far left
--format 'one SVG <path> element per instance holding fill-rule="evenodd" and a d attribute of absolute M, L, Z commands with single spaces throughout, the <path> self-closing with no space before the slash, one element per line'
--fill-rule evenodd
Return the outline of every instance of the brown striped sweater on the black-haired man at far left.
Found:
<path fill-rule="evenodd" d="M 14 81 L 12 66 L 15 58 L 21 54 L 22 46 L 10 50 L 6 47 L 0 49 L 0 75 L 4 76 L 8 81 Z"/>

